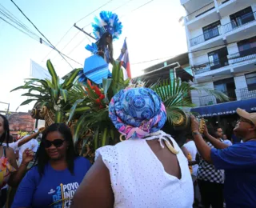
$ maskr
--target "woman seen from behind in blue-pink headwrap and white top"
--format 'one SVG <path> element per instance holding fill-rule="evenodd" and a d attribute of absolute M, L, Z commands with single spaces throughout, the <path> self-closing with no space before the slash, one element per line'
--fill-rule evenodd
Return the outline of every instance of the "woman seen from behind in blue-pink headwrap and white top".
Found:
<path fill-rule="evenodd" d="M 147 88 L 121 90 L 109 114 L 126 141 L 96 151 L 73 207 L 192 207 L 188 162 L 174 139 L 161 131 L 166 109 L 158 94 Z"/>

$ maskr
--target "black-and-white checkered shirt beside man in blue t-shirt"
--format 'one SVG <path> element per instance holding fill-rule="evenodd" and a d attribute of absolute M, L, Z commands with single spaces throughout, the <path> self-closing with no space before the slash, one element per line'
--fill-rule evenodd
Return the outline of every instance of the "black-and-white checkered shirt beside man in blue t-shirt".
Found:
<path fill-rule="evenodd" d="M 221 140 L 221 142 L 223 142 Z M 206 142 L 210 148 L 214 148 L 214 146 L 210 142 Z M 198 167 L 198 176 L 199 180 L 207 181 L 207 182 L 217 182 L 224 183 L 224 170 L 216 170 L 214 165 L 209 164 L 200 156 L 200 162 Z"/>

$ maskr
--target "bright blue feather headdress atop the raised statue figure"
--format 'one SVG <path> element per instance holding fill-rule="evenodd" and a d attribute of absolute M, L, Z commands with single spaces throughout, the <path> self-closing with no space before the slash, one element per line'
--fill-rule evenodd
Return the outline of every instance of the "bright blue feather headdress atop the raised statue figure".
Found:
<path fill-rule="evenodd" d="M 102 11 L 99 17 L 94 18 L 95 23 L 92 24 L 95 38 L 98 40 L 103 34 L 109 32 L 113 40 L 118 39 L 122 34 L 122 22 L 119 22 L 118 15 L 110 11 Z"/>

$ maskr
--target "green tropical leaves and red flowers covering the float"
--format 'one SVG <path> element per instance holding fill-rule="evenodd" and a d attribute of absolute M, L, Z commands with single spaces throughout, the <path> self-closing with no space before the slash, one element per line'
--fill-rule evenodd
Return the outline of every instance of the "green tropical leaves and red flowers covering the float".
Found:
<path fill-rule="evenodd" d="M 28 90 L 28 93 L 22 96 L 29 96 L 30 99 L 22 102 L 21 105 L 32 101 L 40 102 L 42 111 L 47 109 L 54 115 L 54 122 L 66 122 L 71 128 L 79 154 L 93 161 L 94 150 L 98 147 L 114 145 L 120 141 L 120 134 L 109 118 L 110 99 L 119 90 L 127 87 L 142 87 L 145 83 L 124 80 L 121 62 L 118 61 L 113 62 L 112 78 L 102 79 L 102 86 L 94 84 L 89 79 L 83 83 L 78 82 L 78 73 L 81 69 L 74 70 L 60 84 L 50 60 L 47 61 L 46 66 L 52 80 L 32 78 L 24 86 L 14 89 Z M 187 82 L 181 82 L 180 79 L 164 80 L 151 86 L 151 89 L 162 98 L 168 121 L 174 126 L 184 122 L 185 109 L 194 106 L 190 100 L 190 91 L 199 90 Z M 226 95 L 214 90 L 202 87 L 200 90 L 206 90 L 218 99 L 227 99 Z"/>

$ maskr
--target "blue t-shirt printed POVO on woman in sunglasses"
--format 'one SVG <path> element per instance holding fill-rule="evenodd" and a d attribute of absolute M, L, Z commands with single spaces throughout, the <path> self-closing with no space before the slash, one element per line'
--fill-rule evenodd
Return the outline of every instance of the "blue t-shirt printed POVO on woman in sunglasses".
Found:
<path fill-rule="evenodd" d="M 34 166 L 18 186 L 11 207 L 70 207 L 71 198 L 90 166 L 86 158 L 76 158 L 73 175 L 68 169 L 54 170 L 48 163 L 42 178 L 38 173 L 38 166 Z"/>

